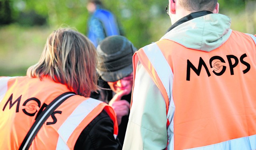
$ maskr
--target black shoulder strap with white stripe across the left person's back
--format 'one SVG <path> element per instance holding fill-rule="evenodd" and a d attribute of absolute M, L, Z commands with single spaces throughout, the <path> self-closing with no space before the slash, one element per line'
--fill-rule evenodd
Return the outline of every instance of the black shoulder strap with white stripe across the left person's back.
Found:
<path fill-rule="evenodd" d="M 60 106 L 60 104 L 62 104 L 66 99 L 68 99 L 69 97 L 71 97 L 73 95 L 76 95 L 76 94 L 74 92 L 63 93 L 63 94 L 59 95 L 58 97 L 56 97 L 48 106 L 46 106 L 44 111 L 42 111 L 42 113 L 40 113 L 40 115 L 38 116 L 38 118 L 36 119 L 36 121 L 34 122 L 32 127 L 28 131 L 22 144 L 20 145 L 19 150 L 28 150 L 28 148 L 32 144 L 32 141 L 34 140 L 36 134 L 41 129 L 42 125 L 45 123 L 45 121 L 48 119 L 48 117 L 50 117 L 50 115 L 54 112 L 54 110 L 56 108 L 58 108 Z"/>

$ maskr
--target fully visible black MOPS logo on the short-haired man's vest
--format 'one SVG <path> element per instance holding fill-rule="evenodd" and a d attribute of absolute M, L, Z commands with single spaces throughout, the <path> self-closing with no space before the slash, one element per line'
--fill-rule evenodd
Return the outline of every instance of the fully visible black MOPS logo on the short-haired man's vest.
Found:
<path fill-rule="evenodd" d="M 240 56 L 240 58 L 234 56 L 234 55 L 226 55 L 226 58 L 228 60 L 228 63 L 225 62 L 224 58 L 221 56 L 212 56 L 209 60 L 210 64 L 210 70 L 212 73 L 214 73 L 216 76 L 221 76 L 226 72 L 227 66 L 229 67 L 230 75 L 234 75 L 234 68 L 239 64 L 243 64 L 245 69 L 243 70 L 243 74 L 246 74 L 251 66 L 248 62 L 244 60 L 247 55 L 243 54 Z M 239 61 L 240 60 L 240 61 Z M 190 81 L 190 72 L 193 70 L 196 75 L 200 76 L 202 67 L 204 67 L 204 70 L 206 71 L 206 74 L 208 77 L 210 77 L 212 74 L 210 73 L 209 68 L 206 65 L 206 62 L 202 59 L 202 57 L 199 58 L 198 67 L 196 68 L 190 60 L 187 60 L 187 74 L 186 74 L 186 80 Z"/>

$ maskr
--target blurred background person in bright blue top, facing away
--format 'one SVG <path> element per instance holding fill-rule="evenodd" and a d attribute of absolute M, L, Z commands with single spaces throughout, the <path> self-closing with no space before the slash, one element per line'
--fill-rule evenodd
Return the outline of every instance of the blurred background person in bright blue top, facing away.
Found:
<path fill-rule="evenodd" d="M 116 17 L 112 12 L 103 9 L 100 0 L 88 0 L 87 10 L 91 14 L 88 19 L 88 38 L 95 47 L 105 37 L 120 35 L 120 28 Z"/>

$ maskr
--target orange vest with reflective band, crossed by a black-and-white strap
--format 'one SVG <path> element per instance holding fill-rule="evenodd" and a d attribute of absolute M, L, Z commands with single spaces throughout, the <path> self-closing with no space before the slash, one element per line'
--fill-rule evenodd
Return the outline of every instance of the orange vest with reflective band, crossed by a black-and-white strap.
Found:
<path fill-rule="evenodd" d="M 37 115 L 67 86 L 50 78 L 0 77 L 0 149 L 18 150 Z M 30 150 L 73 150 L 84 128 L 105 110 L 118 133 L 112 107 L 96 99 L 74 95 L 64 101 L 46 120 Z"/>

